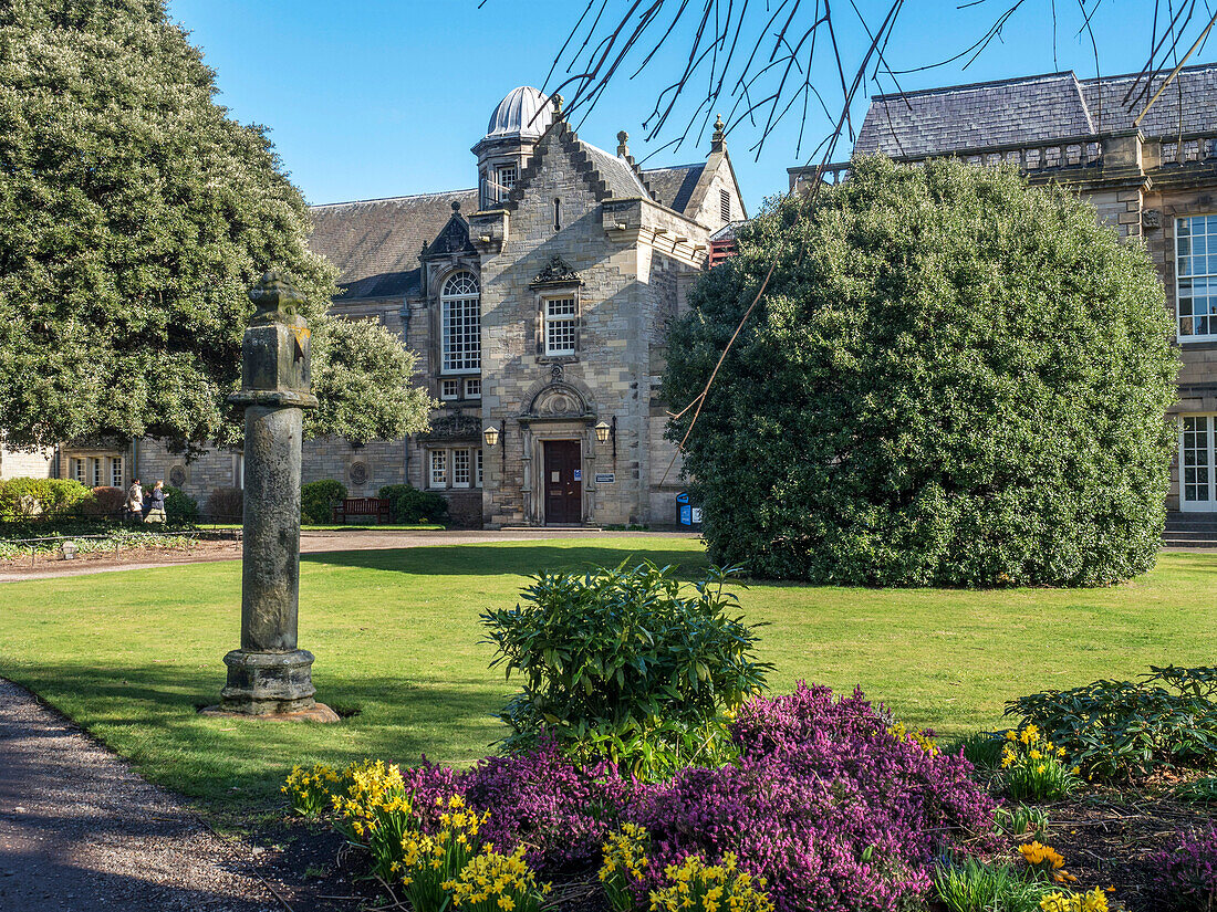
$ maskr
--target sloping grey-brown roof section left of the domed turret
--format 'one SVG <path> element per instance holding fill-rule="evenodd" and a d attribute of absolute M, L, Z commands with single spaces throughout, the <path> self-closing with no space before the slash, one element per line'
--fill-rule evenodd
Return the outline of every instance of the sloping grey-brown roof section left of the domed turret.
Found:
<path fill-rule="evenodd" d="M 477 190 L 420 193 L 309 207 L 309 248 L 338 268 L 343 302 L 420 291 L 419 252 L 439 237 L 453 203 L 477 209 Z"/>

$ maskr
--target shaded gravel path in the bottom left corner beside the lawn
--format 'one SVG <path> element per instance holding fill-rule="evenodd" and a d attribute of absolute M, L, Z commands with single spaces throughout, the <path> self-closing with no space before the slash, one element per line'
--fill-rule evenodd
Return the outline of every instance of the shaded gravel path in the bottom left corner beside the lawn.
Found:
<path fill-rule="evenodd" d="M 0 679 L 0 912 L 282 912 L 253 857 Z"/>

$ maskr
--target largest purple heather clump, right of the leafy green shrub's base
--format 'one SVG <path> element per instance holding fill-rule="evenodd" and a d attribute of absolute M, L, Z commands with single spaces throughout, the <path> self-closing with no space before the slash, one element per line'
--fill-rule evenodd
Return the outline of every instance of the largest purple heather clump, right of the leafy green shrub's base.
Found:
<path fill-rule="evenodd" d="M 643 880 L 689 855 L 764 877 L 779 912 L 894 910 L 930 888 L 953 835 L 988 832 L 993 801 L 960 756 L 888 733 L 860 693 L 755 699 L 733 726 L 738 764 L 686 769 L 628 810 L 651 835 Z"/>

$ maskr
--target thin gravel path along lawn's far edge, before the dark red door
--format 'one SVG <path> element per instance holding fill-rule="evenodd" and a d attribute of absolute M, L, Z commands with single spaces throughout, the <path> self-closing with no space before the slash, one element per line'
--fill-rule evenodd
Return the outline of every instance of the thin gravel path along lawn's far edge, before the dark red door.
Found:
<path fill-rule="evenodd" d="M 327 551 L 370 551 L 383 548 L 416 548 L 433 545 L 476 545 L 489 541 L 537 541 L 540 539 L 641 539 L 660 537 L 699 537 L 700 533 L 679 531 L 590 531 L 582 529 L 538 529 L 535 531 L 490 531 L 490 530 L 434 530 L 434 531 L 377 531 L 375 529 L 352 529 L 349 531 L 303 531 L 301 533 L 301 553 L 323 553 Z M 89 576 L 95 573 L 114 573 L 116 570 L 145 570 L 150 567 L 167 564 L 197 564 L 213 561 L 239 561 L 241 551 L 232 542 L 215 544 L 213 548 L 200 547 L 194 553 L 166 551 L 140 558 L 125 561 L 80 559 L 55 561 L 30 567 L 13 562 L 0 564 L 0 582 L 16 580 L 49 580 L 58 576 Z"/>

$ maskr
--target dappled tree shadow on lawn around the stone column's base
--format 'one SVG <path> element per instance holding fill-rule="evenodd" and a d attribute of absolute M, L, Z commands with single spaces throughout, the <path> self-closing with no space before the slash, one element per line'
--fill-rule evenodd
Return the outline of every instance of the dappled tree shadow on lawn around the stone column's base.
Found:
<path fill-rule="evenodd" d="M 217 657 L 218 662 L 218 657 Z M 204 806 L 259 810 L 281 801 L 295 764 L 343 766 L 365 758 L 414 765 L 424 755 L 466 764 L 493 753 L 501 677 L 413 680 L 315 675 L 318 699 L 359 714 L 333 725 L 208 717 L 223 668 L 28 665 L 0 674 L 37 693 L 133 761 L 150 781 Z"/>

